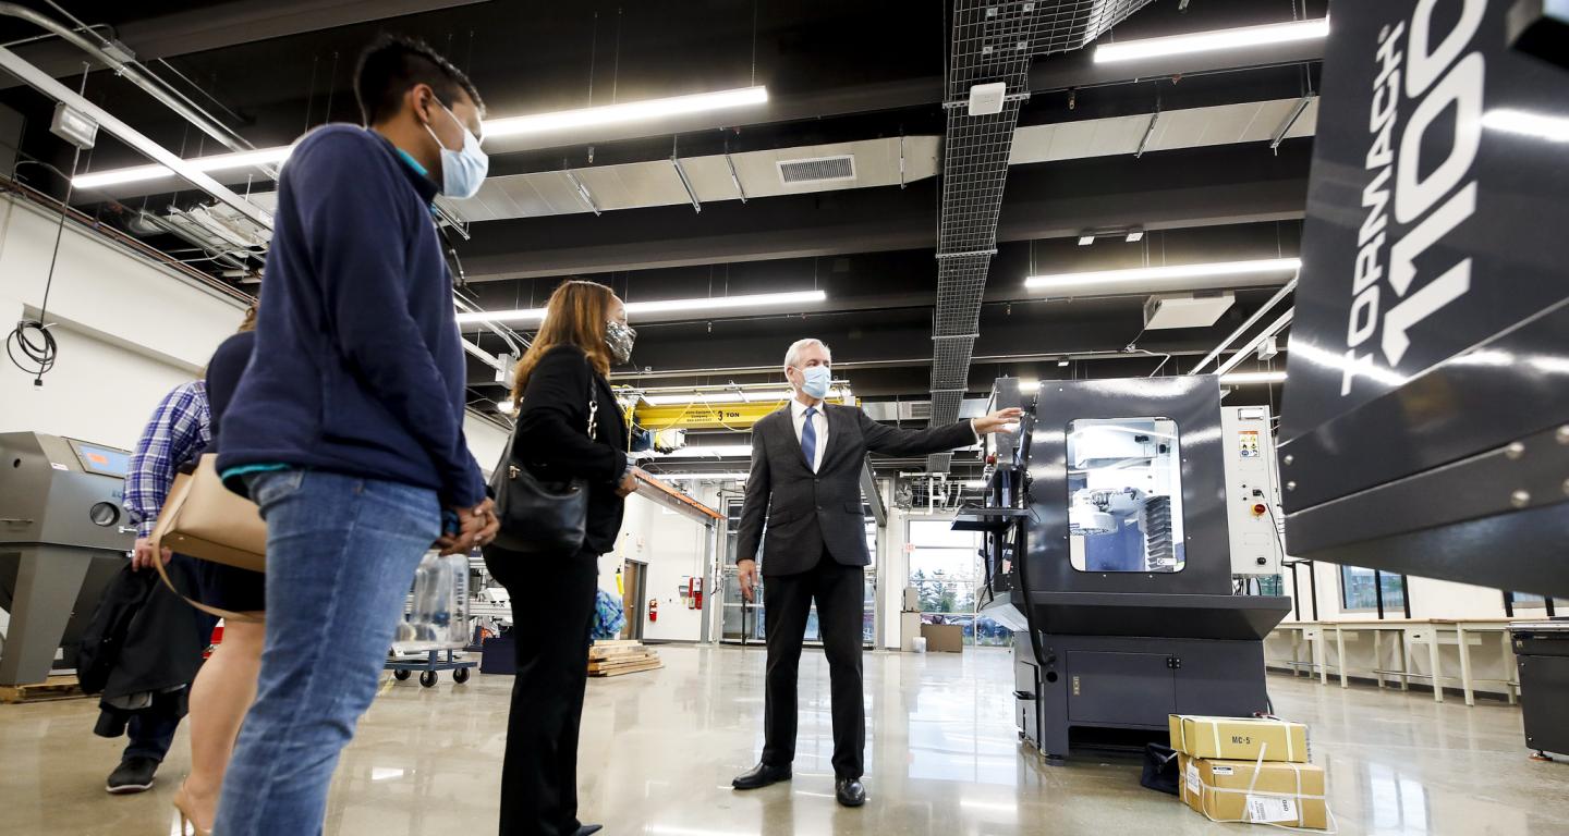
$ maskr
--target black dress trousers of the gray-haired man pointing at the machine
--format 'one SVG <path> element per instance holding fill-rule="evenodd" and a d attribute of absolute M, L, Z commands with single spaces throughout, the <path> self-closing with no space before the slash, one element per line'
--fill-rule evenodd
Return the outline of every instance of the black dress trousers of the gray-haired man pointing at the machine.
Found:
<path fill-rule="evenodd" d="M 844 566 L 827 552 L 810 571 L 764 577 L 763 620 L 769 645 L 764 764 L 783 767 L 795 758 L 795 681 L 806 616 L 816 601 L 833 692 L 833 773 L 838 778 L 861 776 L 866 748 L 866 712 L 861 707 L 865 577 L 865 566 Z"/>

